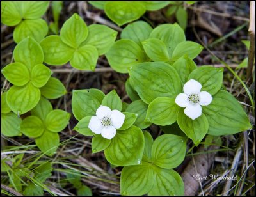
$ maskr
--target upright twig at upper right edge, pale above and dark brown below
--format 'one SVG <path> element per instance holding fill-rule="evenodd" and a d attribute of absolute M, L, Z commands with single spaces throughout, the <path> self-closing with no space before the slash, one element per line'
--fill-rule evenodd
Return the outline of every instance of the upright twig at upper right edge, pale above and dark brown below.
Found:
<path fill-rule="evenodd" d="M 248 55 L 247 80 L 251 81 L 255 52 L 255 1 L 250 3 L 250 24 L 249 24 L 250 48 Z"/>

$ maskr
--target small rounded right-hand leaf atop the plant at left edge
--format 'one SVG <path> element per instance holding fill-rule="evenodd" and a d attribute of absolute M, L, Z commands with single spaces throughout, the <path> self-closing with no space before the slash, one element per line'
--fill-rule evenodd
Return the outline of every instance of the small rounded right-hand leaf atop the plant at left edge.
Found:
<path fill-rule="evenodd" d="M 40 63 L 38 65 L 35 65 L 35 67 L 32 68 L 31 83 L 35 87 L 41 88 L 47 83 L 51 75 L 52 75 L 52 71 L 48 67 L 45 67 L 45 65 Z"/>

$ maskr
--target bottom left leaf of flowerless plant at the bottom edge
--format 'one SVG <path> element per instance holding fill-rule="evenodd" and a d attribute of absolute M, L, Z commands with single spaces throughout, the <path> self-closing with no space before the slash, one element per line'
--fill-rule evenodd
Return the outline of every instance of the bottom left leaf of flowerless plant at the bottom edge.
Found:
<path fill-rule="evenodd" d="M 126 166 L 122 169 L 120 194 L 124 196 L 141 196 L 148 193 L 154 184 L 152 164 Z"/>

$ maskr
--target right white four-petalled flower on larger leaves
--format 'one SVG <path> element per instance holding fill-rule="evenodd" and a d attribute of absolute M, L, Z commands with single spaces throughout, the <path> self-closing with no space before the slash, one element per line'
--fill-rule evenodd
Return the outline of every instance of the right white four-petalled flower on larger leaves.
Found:
<path fill-rule="evenodd" d="M 201 106 L 208 106 L 212 102 L 212 96 L 207 91 L 201 91 L 202 85 L 190 79 L 184 84 L 183 91 L 177 95 L 175 103 L 180 107 L 186 107 L 184 113 L 192 120 L 195 120 L 202 114 Z"/>

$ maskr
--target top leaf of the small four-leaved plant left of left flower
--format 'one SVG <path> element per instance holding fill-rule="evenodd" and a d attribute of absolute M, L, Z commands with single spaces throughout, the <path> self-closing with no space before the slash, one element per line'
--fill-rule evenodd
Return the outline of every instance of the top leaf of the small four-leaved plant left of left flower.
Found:
<path fill-rule="evenodd" d="M 33 109 L 31 109 L 31 115 L 37 116 L 44 122 L 47 114 L 49 114 L 51 111 L 51 102 L 49 102 L 49 100 L 45 99 L 44 97 L 41 97 L 38 104 Z"/>

